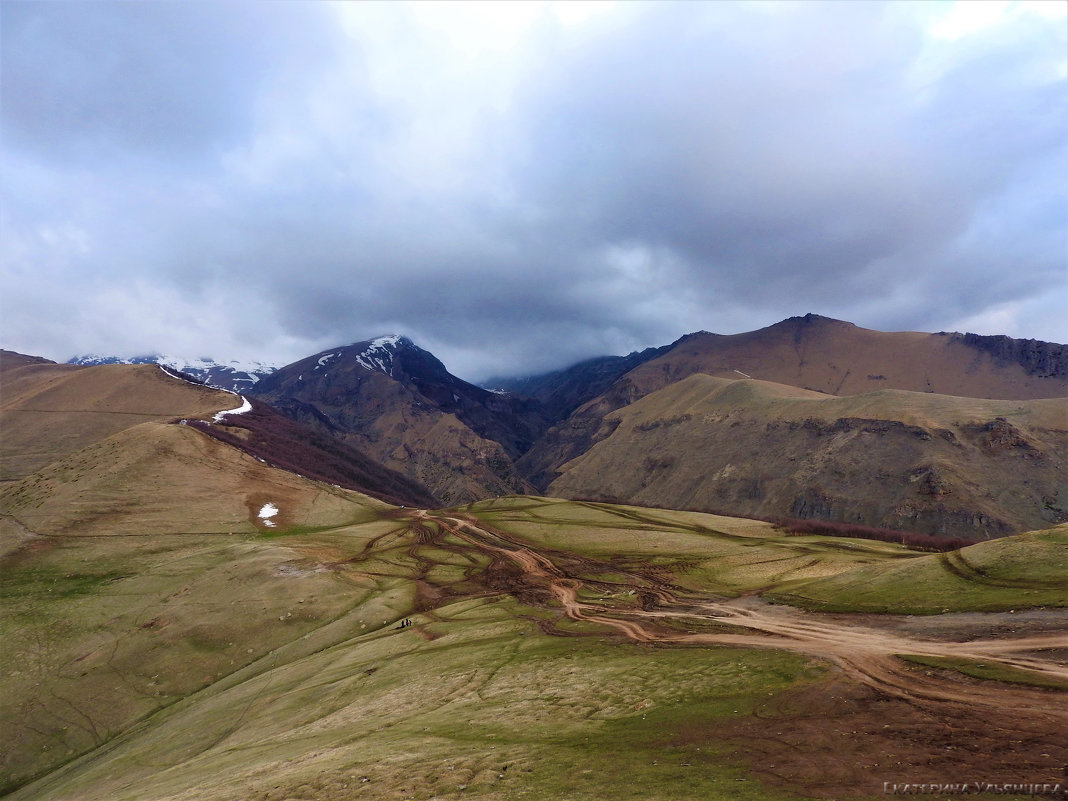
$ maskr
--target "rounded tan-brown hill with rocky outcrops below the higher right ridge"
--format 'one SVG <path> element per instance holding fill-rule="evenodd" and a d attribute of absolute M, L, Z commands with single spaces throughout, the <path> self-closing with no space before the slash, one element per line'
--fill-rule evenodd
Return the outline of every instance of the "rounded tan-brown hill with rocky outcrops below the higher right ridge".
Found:
<path fill-rule="evenodd" d="M 551 494 L 971 537 L 1068 520 L 1059 398 L 834 397 L 694 375 L 592 439 Z"/>

